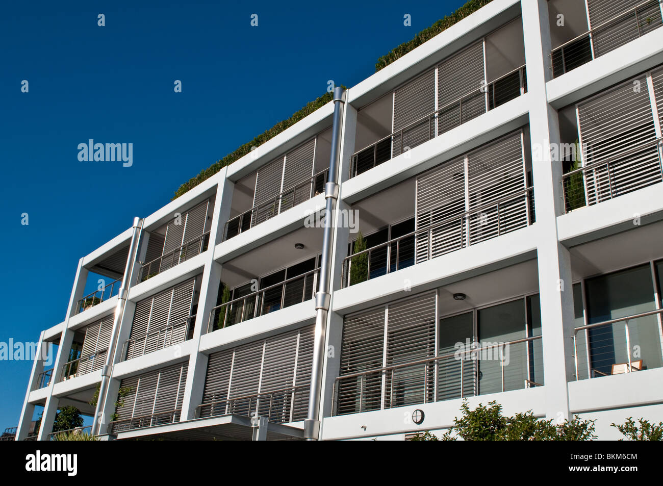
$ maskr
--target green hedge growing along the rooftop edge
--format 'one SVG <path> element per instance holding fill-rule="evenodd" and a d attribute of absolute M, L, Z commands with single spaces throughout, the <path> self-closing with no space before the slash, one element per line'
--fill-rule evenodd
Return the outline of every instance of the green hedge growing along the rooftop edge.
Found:
<path fill-rule="evenodd" d="M 432 26 L 428 27 L 428 29 L 424 29 L 412 40 L 408 40 L 408 42 L 403 42 L 400 44 L 400 46 L 394 48 L 389 52 L 389 54 L 386 54 L 385 56 L 382 56 L 377 60 L 377 63 L 375 64 L 375 72 L 378 72 L 379 70 L 389 66 L 392 62 L 394 62 L 396 59 L 404 56 L 414 48 L 420 46 L 427 40 L 432 39 L 434 36 L 439 34 L 440 32 L 448 29 L 449 27 L 452 27 L 455 23 L 458 21 L 461 21 L 462 19 L 465 19 L 468 15 L 471 13 L 479 10 L 481 7 L 484 5 L 487 5 L 488 3 L 491 3 L 492 0 L 469 0 L 465 5 L 457 9 L 457 11 L 453 12 L 451 15 L 446 15 L 436 23 L 434 23 Z M 173 196 L 173 200 L 176 198 L 179 198 L 187 192 L 188 190 L 198 186 L 201 182 L 204 180 L 210 178 L 219 170 L 221 170 L 223 167 L 228 166 L 235 162 L 235 160 L 239 160 L 239 158 L 245 156 L 249 152 L 251 152 L 251 147 L 260 147 L 263 145 L 263 143 L 267 142 L 269 139 L 272 139 L 276 137 L 279 133 L 284 131 L 286 128 L 291 127 L 301 119 L 304 119 L 320 107 L 326 105 L 326 103 L 329 103 L 332 99 L 332 93 L 325 93 L 324 95 L 314 99 L 313 101 L 310 101 L 310 103 L 307 103 L 306 106 L 302 107 L 302 109 L 296 111 L 295 113 L 292 114 L 292 116 L 288 119 L 285 119 L 283 121 L 279 121 L 271 127 L 271 129 L 261 133 L 261 135 L 258 135 L 255 137 L 250 142 L 245 143 L 238 149 L 235 149 L 235 151 L 230 152 L 227 154 L 225 157 L 221 158 L 221 160 L 217 160 L 217 162 L 214 162 L 209 166 L 208 168 L 202 170 L 200 174 L 197 176 L 189 179 L 187 182 L 182 184 L 178 188 L 178 190 L 175 191 L 175 195 Z"/>

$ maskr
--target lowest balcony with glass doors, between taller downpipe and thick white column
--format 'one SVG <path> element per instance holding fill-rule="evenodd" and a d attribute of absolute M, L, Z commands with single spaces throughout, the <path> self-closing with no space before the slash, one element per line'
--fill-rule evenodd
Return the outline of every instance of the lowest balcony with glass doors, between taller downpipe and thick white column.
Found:
<path fill-rule="evenodd" d="M 537 287 L 533 260 L 347 314 L 333 414 L 544 385 Z"/>

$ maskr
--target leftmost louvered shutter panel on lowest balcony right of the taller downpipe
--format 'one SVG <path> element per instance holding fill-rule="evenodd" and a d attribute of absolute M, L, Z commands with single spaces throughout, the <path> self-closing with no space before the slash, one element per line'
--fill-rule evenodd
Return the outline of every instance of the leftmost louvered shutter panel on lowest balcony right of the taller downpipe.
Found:
<path fill-rule="evenodd" d="M 343 319 L 341 375 L 383 367 L 385 346 L 385 306 L 348 314 Z M 381 372 L 340 379 L 337 414 L 351 414 L 381 408 Z"/>

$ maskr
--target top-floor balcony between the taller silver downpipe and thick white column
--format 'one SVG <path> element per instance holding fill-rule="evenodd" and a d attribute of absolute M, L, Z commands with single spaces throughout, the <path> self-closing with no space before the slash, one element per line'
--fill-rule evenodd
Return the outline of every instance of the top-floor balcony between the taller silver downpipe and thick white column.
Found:
<path fill-rule="evenodd" d="M 522 19 L 444 58 L 357 112 L 355 177 L 527 92 Z"/>

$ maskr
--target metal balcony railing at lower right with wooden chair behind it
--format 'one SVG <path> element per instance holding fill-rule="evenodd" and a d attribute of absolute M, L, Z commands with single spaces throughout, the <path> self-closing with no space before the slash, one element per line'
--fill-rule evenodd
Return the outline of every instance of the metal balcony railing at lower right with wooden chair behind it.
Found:
<path fill-rule="evenodd" d="M 575 328 L 576 381 L 660 367 L 660 338 L 655 340 L 652 355 L 648 355 L 643 344 L 650 340 L 646 336 L 660 335 L 656 316 L 661 314 L 662 309 L 652 310 Z M 638 345 L 638 355 L 632 355 L 634 343 Z"/>

